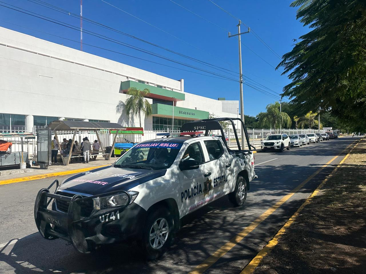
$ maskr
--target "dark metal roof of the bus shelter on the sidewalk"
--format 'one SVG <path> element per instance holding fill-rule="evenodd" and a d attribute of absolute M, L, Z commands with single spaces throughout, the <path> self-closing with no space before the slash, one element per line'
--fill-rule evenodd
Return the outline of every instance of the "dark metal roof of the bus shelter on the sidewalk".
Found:
<path fill-rule="evenodd" d="M 106 123 L 106 122 L 84 122 L 84 121 L 53 121 L 47 128 L 53 130 L 96 130 L 96 129 L 122 129 L 126 130 L 126 127 L 121 126 L 117 123 Z"/>

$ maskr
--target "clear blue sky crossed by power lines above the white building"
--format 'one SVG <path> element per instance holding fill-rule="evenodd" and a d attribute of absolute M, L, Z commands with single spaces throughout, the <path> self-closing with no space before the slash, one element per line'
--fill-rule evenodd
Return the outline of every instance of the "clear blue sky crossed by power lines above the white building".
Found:
<path fill-rule="evenodd" d="M 80 25 L 79 19 L 31 3 L 31 1 L 2 1 L 23 9 L 27 9 L 29 11 L 36 12 L 38 14 L 48 16 L 61 22 L 72 24 L 77 27 Z M 66 9 L 67 11 L 75 14 L 80 13 L 79 0 L 42 1 Z M 229 73 L 232 74 L 226 74 L 222 71 L 204 66 L 192 60 L 188 60 L 184 57 L 167 52 L 166 50 L 148 45 L 130 37 L 126 37 L 114 31 L 95 26 L 84 20 L 83 28 L 85 30 L 93 31 L 109 38 L 116 39 L 117 41 L 141 47 L 145 50 L 161 54 L 180 62 L 185 62 L 190 65 L 207 69 L 209 71 L 224 74 L 231 79 L 238 79 L 238 40 L 236 38 L 228 38 L 228 34 L 225 31 L 229 30 L 232 34 L 237 33 L 238 28 L 236 25 L 238 22 L 236 19 L 232 18 L 224 11 L 210 3 L 210 1 L 173 0 L 183 7 L 186 7 L 187 9 L 190 9 L 196 14 L 202 16 L 203 18 L 206 18 L 214 24 L 217 24 L 221 28 L 224 28 L 225 30 L 206 22 L 205 20 L 186 11 L 182 7 L 179 7 L 169 0 L 105 1 L 115 5 L 116 7 L 119 7 L 120 9 L 123 9 L 132 15 L 137 16 L 138 18 L 145 20 L 146 22 L 149 22 L 150 24 L 153 24 L 158 28 L 161 28 L 162 30 L 182 39 L 183 41 L 190 43 L 194 47 L 172 37 L 167 33 L 164 33 L 161 30 L 158 30 L 157 28 L 149 26 L 141 20 L 138 20 L 112 7 L 111 5 L 104 3 L 102 0 L 84 0 L 83 16 L 98 23 L 102 23 L 109 27 L 123 31 L 124 33 L 128 33 L 134 35 L 135 37 L 166 47 L 175 52 L 179 52 L 209 64 L 228 69 L 230 70 Z M 305 34 L 308 30 L 307 27 L 303 27 L 302 24 L 296 20 L 296 8 L 291 8 L 291 1 L 288 0 L 213 0 L 213 2 L 220 5 L 237 18 L 240 18 L 244 24 L 248 25 L 252 30 L 254 30 L 255 33 L 259 35 L 259 37 L 261 37 L 280 56 L 292 49 L 292 39 L 298 39 L 300 35 Z M 14 24 L 19 26 L 15 26 Z M 72 30 L 64 26 L 59 26 L 42 19 L 34 18 L 33 16 L 12 11 L 1 6 L 0 26 L 33 35 L 51 42 L 59 44 L 62 43 L 64 46 L 80 49 L 79 43 L 64 39 L 68 38 L 79 41 L 79 31 Z M 32 28 L 34 30 L 20 26 Z M 42 31 L 43 33 L 39 31 Z M 246 27 L 243 25 L 242 31 L 246 31 Z M 55 34 L 64 38 L 55 37 L 45 33 Z M 105 41 L 86 33 L 83 34 L 83 42 L 146 60 L 174 66 L 176 68 L 182 68 L 205 74 L 205 72 L 197 71 L 193 68 L 187 68 L 180 64 L 174 64 L 156 56 L 138 52 L 134 49 L 130 49 L 110 41 Z M 253 33 L 242 35 L 242 42 L 272 66 L 276 66 L 280 62 L 280 59 L 271 53 L 261 42 L 259 42 Z M 290 80 L 288 80 L 286 76 L 281 76 L 280 71 L 275 71 L 272 66 L 266 64 L 266 62 L 261 60 L 261 58 L 256 56 L 246 46 L 242 46 L 244 77 L 249 77 L 251 80 L 256 81 L 257 83 L 254 83 L 256 86 L 261 84 L 262 86 L 269 88 L 277 94 L 281 93 L 283 86 L 288 84 Z M 108 52 L 106 50 L 87 46 L 85 44 L 83 45 L 83 51 L 135 66 L 137 68 L 145 69 L 146 71 L 154 72 L 172 79 L 178 80 L 183 78 L 186 92 L 214 99 L 225 97 L 227 100 L 239 100 L 239 83 L 235 81 L 217 79 L 175 68 L 169 68 L 167 66 L 154 64 L 152 62 L 139 60 L 133 57 L 123 56 L 118 53 Z M 253 84 L 251 80 L 247 79 L 246 83 Z M 263 87 L 260 88 L 265 89 Z M 244 113 L 247 115 L 255 116 L 260 111 L 264 111 L 267 104 L 272 103 L 275 100 L 276 99 L 244 85 Z"/>

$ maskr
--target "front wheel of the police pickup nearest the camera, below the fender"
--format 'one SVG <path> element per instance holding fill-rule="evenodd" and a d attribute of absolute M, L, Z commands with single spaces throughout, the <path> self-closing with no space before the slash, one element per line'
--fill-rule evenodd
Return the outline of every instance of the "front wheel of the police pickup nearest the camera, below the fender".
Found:
<path fill-rule="evenodd" d="M 157 259 L 164 254 L 174 239 L 174 231 L 173 215 L 167 208 L 157 206 L 149 210 L 141 240 L 141 247 L 147 260 Z M 150 235 L 155 232 L 158 236 L 150 240 Z M 156 247 L 153 247 L 154 245 Z"/>

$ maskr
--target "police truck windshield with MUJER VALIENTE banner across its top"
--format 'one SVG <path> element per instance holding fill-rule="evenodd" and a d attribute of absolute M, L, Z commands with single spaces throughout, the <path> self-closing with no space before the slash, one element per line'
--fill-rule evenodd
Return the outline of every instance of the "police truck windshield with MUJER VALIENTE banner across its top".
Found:
<path fill-rule="evenodd" d="M 169 168 L 182 144 L 146 142 L 132 147 L 114 164 L 115 167 L 161 170 Z"/>

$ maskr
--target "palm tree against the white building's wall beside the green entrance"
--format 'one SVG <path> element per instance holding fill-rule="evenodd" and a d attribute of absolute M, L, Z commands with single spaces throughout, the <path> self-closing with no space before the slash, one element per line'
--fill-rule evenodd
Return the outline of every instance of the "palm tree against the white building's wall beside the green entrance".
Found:
<path fill-rule="evenodd" d="M 145 116 L 149 116 L 153 113 L 151 104 L 145 99 L 145 97 L 149 96 L 150 91 L 147 88 L 138 90 L 135 87 L 130 87 L 126 94 L 128 95 L 128 98 L 125 102 L 118 102 L 116 113 L 122 114 L 123 111 L 126 111 L 127 116 L 138 115 L 141 127 L 141 113 L 145 114 Z"/>

